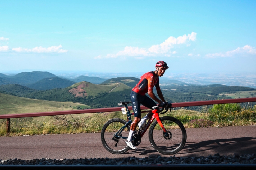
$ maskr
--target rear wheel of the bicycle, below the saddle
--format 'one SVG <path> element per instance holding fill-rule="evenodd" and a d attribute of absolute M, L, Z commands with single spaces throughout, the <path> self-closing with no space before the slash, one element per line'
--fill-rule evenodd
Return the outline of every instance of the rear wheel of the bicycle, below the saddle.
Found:
<path fill-rule="evenodd" d="M 126 139 L 115 138 L 115 140 L 118 140 L 118 142 L 113 140 L 114 135 L 126 123 L 127 122 L 123 119 L 119 119 L 119 118 L 110 119 L 104 124 L 101 130 L 101 142 L 104 148 L 106 148 L 106 150 L 112 154 L 122 154 L 130 149 L 130 147 L 128 147 L 127 144 L 125 143 Z M 123 137 L 128 137 L 129 131 L 130 131 L 130 127 L 127 126 L 121 132 L 120 135 Z"/>

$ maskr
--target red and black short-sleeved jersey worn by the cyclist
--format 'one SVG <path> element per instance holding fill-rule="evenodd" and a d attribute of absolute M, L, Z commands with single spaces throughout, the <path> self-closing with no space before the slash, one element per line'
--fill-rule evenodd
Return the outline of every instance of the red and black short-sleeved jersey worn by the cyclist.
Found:
<path fill-rule="evenodd" d="M 150 71 L 140 77 L 139 83 L 132 89 L 132 91 L 144 96 L 148 90 L 153 90 L 154 86 L 156 86 L 156 90 L 160 90 L 159 77 L 156 76 L 153 71 Z"/>

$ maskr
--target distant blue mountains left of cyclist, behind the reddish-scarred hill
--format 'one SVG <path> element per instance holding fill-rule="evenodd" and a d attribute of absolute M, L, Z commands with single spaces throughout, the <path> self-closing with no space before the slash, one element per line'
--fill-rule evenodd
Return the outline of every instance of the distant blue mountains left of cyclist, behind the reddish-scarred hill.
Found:
<path fill-rule="evenodd" d="M 72 84 L 82 81 L 90 82 L 93 84 L 109 84 L 121 82 L 123 84 L 126 84 L 127 86 L 134 87 L 139 82 L 139 79 L 135 77 L 104 79 L 89 76 L 79 76 L 74 79 L 67 79 L 63 77 L 58 77 L 49 72 L 42 71 L 22 72 L 16 74 L 15 76 L 7 76 L 0 73 L 0 85 L 19 84 L 36 90 L 66 88 L 71 86 Z"/>

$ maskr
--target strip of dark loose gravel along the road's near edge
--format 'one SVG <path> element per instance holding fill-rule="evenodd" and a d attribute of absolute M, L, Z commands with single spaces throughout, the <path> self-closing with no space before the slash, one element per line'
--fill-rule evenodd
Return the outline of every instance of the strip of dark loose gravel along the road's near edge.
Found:
<path fill-rule="evenodd" d="M 161 157 L 149 156 L 145 158 L 80 158 L 80 159 L 8 159 L 0 160 L 0 165 L 168 165 L 168 164 L 256 164 L 256 154 L 233 154 L 221 156 L 220 154 L 207 157 Z"/>

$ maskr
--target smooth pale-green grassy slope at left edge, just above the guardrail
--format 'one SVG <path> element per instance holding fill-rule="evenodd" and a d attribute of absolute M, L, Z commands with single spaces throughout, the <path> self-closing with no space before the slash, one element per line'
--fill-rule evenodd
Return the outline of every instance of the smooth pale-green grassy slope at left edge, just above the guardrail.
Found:
<path fill-rule="evenodd" d="M 78 106 L 82 109 L 90 108 L 89 106 L 79 103 L 28 99 L 0 93 L 0 114 L 74 110 L 77 109 Z"/>

